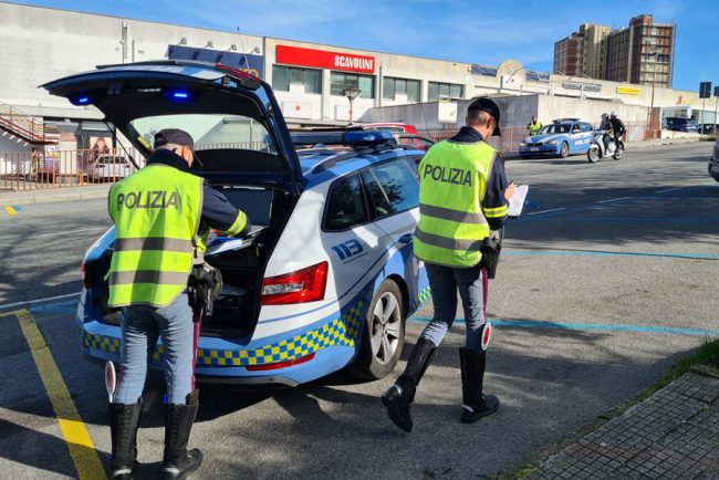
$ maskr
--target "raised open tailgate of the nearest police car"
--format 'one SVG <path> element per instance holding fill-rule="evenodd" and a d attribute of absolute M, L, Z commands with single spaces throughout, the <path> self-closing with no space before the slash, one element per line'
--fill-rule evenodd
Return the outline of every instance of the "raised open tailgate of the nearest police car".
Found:
<path fill-rule="evenodd" d="M 205 62 L 152 61 L 98 66 L 42 87 L 73 105 L 97 107 L 105 121 L 115 125 L 145 157 L 152 153 L 152 138 L 135 131 L 131 124 L 134 119 L 181 114 L 247 117 L 264 127 L 268 144 L 273 146 L 271 152 L 260 152 L 264 155 L 251 156 L 252 178 L 282 186 L 290 192 L 301 190 L 300 160 L 272 88 L 240 70 Z M 247 168 L 248 161 L 237 165 L 238 169 Z M 232 168 L 233 164 L 222 163 L 223 171 L 210 168 L 202 175 L 211 178 L 213 174 L 232 174 Z"/>

